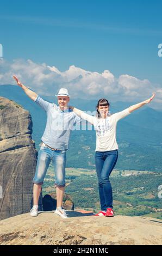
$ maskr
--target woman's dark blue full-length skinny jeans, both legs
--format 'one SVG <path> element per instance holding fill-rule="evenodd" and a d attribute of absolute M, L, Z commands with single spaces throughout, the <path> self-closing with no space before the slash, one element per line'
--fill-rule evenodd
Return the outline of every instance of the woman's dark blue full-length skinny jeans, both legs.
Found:
<path fill-rule="evenodd" d="M 115 167 L 117 158 L 117 149 L 105 152 L 96 151 L 95 153 L 98 190 L 102 211 L 106 211 L 107 208 L 113 209 L 113 192 L 109 176 Z"/>

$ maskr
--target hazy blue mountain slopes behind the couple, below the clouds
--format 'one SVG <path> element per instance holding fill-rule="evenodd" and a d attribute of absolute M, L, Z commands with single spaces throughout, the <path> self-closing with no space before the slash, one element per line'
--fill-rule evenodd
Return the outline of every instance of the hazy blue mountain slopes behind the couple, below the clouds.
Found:
<path fill-rule="evenodd" d="M 0 96 L 16 101 L 28 109 L 33 120 L 33 139 L 39 143 L 46 125 L 46 113 L 36 105 L 18 86 L 0 86 Z M 41 96 L 41 95 L 40 95 Z M 57 97 L 43 96 L 57 103 Z M 71 99 L 70 104 L 83 111 L 94 111 L 97 100 Z M 115 113 L 137 102 L 110 102 L 110 111 Z M 144 106 L 122 119 L 117 124 L 119 160 L 117 169 L 161 170 L 162 164 L 162 112 Z M 67 152 L 67 167 L 94 168 L 95 131 L 73 131 L 70 150 Z"/>

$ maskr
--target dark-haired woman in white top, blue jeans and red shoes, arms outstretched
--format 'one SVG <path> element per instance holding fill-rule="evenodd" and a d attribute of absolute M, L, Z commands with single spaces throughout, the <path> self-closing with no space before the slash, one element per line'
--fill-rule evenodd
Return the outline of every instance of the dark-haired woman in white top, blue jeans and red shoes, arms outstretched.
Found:
<path fill-rule="evenodd" d="M 130 106 L 121 112 L 109 114 L 109 102 L 100 99 L 96 106 L 96 117 L 88 115 L 79 109 L 70 106 L 74 113 L 94 125 L 96 130 L 96 153 L 95 163 L 98 177 L 98 190 L 101 211 L 95 216 L 113 217 L 113 192 L 109 176 L 115 167 L 118 158 L 118 145 L 116 142 L 116 124 L 121 118 L 126 117 L 134 110 L 152 101 L 155 94 L 148 100 Z"/>

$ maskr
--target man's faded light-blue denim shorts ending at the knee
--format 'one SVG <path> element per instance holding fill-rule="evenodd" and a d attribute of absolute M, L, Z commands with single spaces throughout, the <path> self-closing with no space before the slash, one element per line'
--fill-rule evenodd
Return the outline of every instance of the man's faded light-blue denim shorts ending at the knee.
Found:
<path fill-rule="evenodd" d="M 55 185 L 65 187 L 66 150 L 52 150 L 45 146 L 41 146 L 39 150 L 33 183 L 43 184 L 51 160 L 55 173 Z"/>

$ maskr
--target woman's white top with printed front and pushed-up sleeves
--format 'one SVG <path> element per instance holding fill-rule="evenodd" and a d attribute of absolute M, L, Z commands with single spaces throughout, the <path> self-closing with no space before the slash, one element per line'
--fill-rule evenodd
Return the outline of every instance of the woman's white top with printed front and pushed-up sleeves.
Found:
<path fill-rule="evenodd" d="M 128 108 L 115 114 L 109 115 L 107 118 L 97 118 L 82 112 L 80 115 L 84 120 L 94 125 L 96 130 L 96 151 L 109 151 L 119 149 L 116 142 L 116 125 L 117 121 L 130 114 Z"/>

